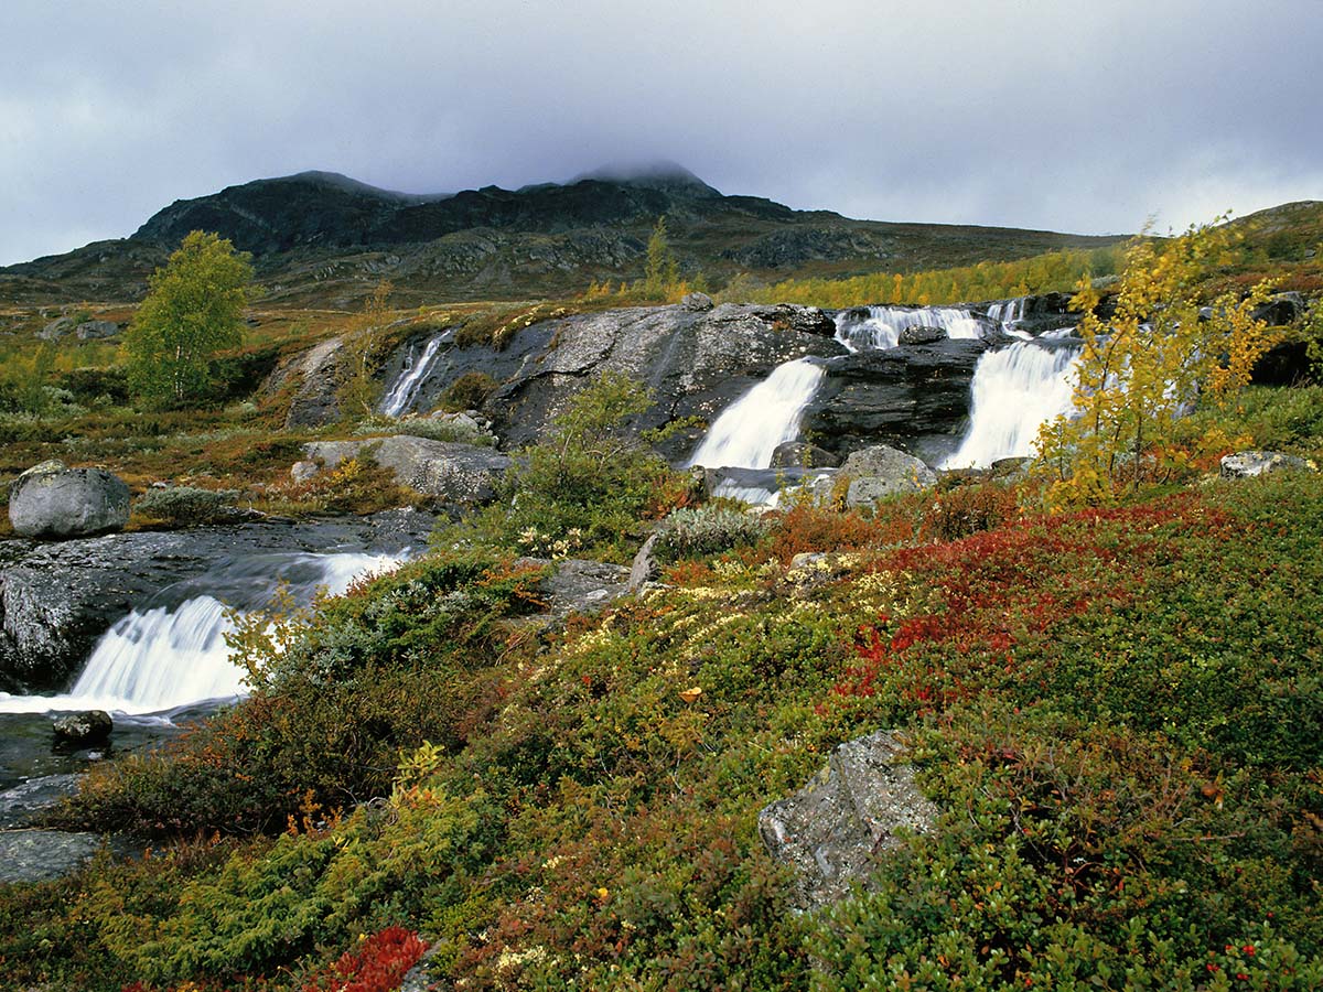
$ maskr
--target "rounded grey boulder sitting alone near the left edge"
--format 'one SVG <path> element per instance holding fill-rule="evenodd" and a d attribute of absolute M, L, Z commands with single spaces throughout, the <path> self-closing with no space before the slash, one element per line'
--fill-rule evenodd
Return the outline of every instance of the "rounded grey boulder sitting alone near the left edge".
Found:
<path fill-rule="evenodd" d="M 128 487 L 105 468 L 42 462 L 9 485 L 9 522 L 21 537 L 86 537 L 123 530 Z"/>

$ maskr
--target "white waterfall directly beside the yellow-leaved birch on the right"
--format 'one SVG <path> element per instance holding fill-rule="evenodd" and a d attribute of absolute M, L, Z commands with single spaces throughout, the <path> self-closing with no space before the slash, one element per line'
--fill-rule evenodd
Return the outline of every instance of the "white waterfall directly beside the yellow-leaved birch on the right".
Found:
<path fill-rule="evenodd" d="M 986 468 L 1033 452 L 1039 426 L 1073 405 L 1080 349 L 1016 341 L 986 352 L 974 366 L 970 429 L 943 468 Z"/>

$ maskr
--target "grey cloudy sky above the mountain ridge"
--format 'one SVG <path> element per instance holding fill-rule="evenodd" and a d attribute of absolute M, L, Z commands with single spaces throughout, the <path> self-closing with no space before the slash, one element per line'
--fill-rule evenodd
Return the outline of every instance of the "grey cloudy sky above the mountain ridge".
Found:
<path fill-rule="evenodd" d="M 310 168 L 665 157 L 853 217 L 1159 229 L 1323 198 L 1323 0 L 0 0 L 0 265 Z"/>

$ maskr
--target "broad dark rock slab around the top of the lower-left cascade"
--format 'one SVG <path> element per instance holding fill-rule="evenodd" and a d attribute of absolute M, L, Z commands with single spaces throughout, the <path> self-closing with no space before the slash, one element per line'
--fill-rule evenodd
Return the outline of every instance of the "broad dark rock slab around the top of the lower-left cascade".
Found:
<path fill-rule="evenodd" d="M 197 594 L 192 581 L 214 575 L 217 566 L 230 561 L 351 548 L 394 554 L 421 546 L 434 524 L 429 513 L 388 511 L 333 521 L 209 525 L 60 544 L 0 541 L 0 690 L 65 688 L 97 639 L 130 610 L 177 606 Z M 257 606 L 242 600 L 253 586 L 251 577 L 237 579 L 218 598 Z"/>

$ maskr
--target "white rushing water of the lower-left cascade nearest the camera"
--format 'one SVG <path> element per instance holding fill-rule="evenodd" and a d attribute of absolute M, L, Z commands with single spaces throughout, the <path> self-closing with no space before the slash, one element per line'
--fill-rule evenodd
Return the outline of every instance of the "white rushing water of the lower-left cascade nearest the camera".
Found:
<path fill-rule="evenodd" d="M 263 577 L 251 573 L 254 559 L 241 562 L 242 582 L 259 582 L 259 599 L 287 579 L 291 594 L 310 602 L 318 587 L 339 595 L 369 573 L 397 567 L 402 558 L 366 553 L 259 556 Z M 233 574 L 202 577 L 187 583 L 192 590 L 233 590 Z M 201 593 L 175 607 L 134 610 L 102 635 L 78 681 L 61 696 L 9 696 L 0 693 L 0 713 L 46 713 L 50 710 L 102 709 L 140 716 L 161 713 L 206 700 L 245 694 L 243 669 L 229 660 L 225 635 L 233 630 L 228 608 Z"/>

